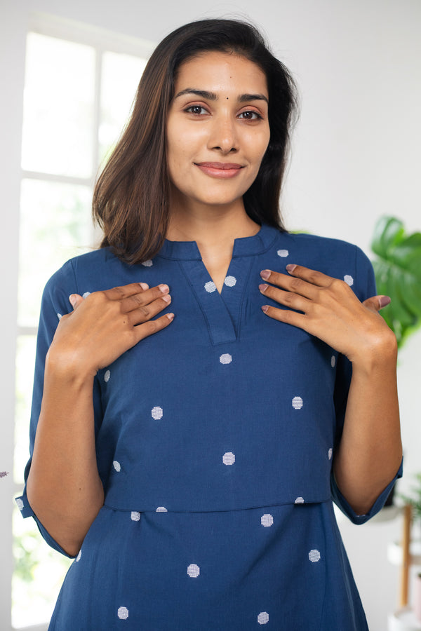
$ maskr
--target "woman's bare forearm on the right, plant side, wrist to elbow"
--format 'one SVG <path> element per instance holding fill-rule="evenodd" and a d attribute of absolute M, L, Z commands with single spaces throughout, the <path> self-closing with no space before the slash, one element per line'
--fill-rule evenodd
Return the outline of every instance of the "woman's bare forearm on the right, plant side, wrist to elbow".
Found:
<path fill-rule="evenodd" d="M 345 424 L 333 463 L 338 488 L 357 514 L 370 510 L 402 459 L 396 340 L 353 363 Z"/>

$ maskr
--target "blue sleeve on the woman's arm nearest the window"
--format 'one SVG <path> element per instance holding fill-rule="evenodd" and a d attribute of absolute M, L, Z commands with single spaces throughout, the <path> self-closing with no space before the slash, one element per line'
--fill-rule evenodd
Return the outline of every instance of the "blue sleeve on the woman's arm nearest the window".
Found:
<path fill-rule="evenodd" d="M 44 289 L 42 301 L 41 301 L 41 314 L 39 318 L 38 335 L 36 339 L 36 358 L 35 358 L 35 373 L 34 373 L 34 388 L 32 391 L 32 408 L 31 419 L 29 423 L 29 460 L 25 467 L 25 489 L 22 496 L 16 498 L 16 503 L 22 517 L 33 517 L 41 535 L 44 537 L 48 545 L 58 550 L 63 555 L 67 555 L 67 552 L 63 550 L 60 545 L 48 534 L 48 531 L 41 524 L 39 519 L 34 514 L 26 493 L 26 482 L 29 475 L 29 469 L 31 468 L 32 454 L 34 451 L 34 441 L 36 435 L 36 426 L 38 424 L 39 413 L 41 410 L 41 400 L 44 390 L 44 367 L 46 361 L 46 354 L 48 348 L 53 340 L 55 330 L 58 326 L 60 318 L 65 313 L 69 313 L 72 310 L 72 306 L 69 303 L 69 295 L 72 293 L 79 293 L 79 289 L 76 283 L 72 262 L 67 262 L 58 272 L 48 280 L 48 283 Z M 100 423 L 100 387 L 97 379 L 94 381 L 93 389 L 93 401 L 95 410 L 95 428 Z"/>

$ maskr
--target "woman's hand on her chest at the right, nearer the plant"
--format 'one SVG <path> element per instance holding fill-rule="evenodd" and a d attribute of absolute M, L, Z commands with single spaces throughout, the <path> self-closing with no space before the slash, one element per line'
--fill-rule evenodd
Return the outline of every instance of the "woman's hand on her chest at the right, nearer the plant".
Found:
<path fill-rule="evenodd" d="M 270 270 L 260 273 L 271 283 L 259 285 L 260 292 L 288 307 L 264 305 L 266 315 L 318 337 L 352 362 L 364 363 L 370 356 L 393 353 L 396 338 L 377 313 L 389 304 L 387 296 L 361 302 L 345 280 L 299 265 L 286 269 L 288 275 Z"/>

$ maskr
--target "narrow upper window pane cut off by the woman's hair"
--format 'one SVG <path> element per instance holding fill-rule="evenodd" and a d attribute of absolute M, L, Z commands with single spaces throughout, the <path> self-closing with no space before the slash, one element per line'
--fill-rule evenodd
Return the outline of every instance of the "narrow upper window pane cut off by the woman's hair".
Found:
<path fill-rule="evenodd" d="M 133 55 L 102 55 L 100 162 L 114 147 L 128 120 L 146 60 Z"/>

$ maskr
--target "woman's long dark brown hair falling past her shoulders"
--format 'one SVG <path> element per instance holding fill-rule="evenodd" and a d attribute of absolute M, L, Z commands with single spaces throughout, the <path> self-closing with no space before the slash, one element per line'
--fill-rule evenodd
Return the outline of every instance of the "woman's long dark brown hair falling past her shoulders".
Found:
<path fill-rule="evenodd" d="M 279 195 L 297 109 L 295 83 L 253 25 L 239 20 L 199 20 L 167 35 L 152 53 L 131 118 L 95 186 L 93 216 L 105 235 L 101 247 L 111 246 L 126 262 L 151 259 L 165 238 L 170 199 L 165 131 L 175 77 L 183 62 L 208 50 L 243 55 L 265 72 L 269 147 L 243 201 L 255 222 L 284 231 Z"/>

